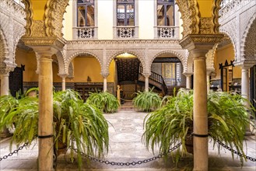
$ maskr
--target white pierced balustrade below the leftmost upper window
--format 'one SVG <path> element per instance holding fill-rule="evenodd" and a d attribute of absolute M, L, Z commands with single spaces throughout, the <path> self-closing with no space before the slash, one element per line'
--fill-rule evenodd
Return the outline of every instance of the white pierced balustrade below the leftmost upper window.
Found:
<path fill-rule="evenodd" d="M 77 35 L 77 39 L 93 39 L 95 37 L 94 26 L 82 26 L 73 28 Z"/>

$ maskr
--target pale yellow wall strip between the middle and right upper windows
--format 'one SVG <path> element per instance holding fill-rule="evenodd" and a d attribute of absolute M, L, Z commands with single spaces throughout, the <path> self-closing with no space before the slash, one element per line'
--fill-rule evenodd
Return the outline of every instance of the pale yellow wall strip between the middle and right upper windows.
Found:
<path fill-rule="evenodd" d="M 154 38 L 154 1 L 139 1 L 139 38 Z"/>

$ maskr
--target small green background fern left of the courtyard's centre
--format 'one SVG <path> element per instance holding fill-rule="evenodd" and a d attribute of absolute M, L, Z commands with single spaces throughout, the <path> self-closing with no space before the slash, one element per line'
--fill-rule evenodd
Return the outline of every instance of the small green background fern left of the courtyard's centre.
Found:
<path fill-rule="evenodd" d="M 114 113 L 120 106 L 117 98 L 110 92 L 90 92 L 86 103 L 93 104 L 105 113 Z"/>

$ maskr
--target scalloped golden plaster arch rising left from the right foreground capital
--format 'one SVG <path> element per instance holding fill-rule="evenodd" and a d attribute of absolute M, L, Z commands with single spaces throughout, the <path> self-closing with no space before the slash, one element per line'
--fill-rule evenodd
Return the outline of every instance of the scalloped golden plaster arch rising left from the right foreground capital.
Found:
<path fill-rule="evenodd" d="M 198 2 L 196 0 L 176 0 L 183 20 L 183 37 L 199 33 Z"/>

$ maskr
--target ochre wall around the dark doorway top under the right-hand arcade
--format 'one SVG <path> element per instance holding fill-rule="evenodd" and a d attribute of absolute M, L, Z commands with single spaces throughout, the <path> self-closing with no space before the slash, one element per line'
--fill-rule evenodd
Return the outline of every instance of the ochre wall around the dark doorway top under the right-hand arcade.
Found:
<path fill-rule="evenodd" d="M 225 47 L 221 47 L 216 51 L 216 57 L 215 57 L 215 68 L 216 68 L 216 78 L 214 79 L 220 79 L 220 69 L 219 64 L 223 63 L 225 64 L 225 61 L 228 61 L 230 64 L 230 61 L 234 60 L 234 51 L 233 51 L 233 45 L 229 44 Z M 240 67 L 233 67 L 233 79 L 239 79 L 241 78 L 241 68 Z"/>

